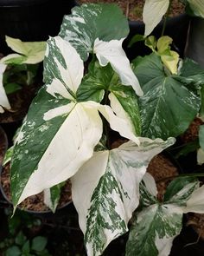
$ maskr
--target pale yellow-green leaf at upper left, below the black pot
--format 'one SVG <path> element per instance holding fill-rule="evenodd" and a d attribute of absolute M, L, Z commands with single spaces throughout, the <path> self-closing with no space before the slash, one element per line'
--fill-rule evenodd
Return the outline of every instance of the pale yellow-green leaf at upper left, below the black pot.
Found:
<path fill-rule="evenodd" d="M 6 36 L 7 45 L 18 54 L 10 54 L 1 59 L 5 64 L 35 64 L 42 62 L 46 50 L 46 42 L 22 42 L 20 39 Z"/>

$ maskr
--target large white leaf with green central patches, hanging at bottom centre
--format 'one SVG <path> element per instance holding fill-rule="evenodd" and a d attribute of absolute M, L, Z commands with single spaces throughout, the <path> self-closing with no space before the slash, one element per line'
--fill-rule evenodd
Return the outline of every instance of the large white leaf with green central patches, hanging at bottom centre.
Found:
<path fill-rule="evenodd" d="M 127 232 L 127 224 L 139 203 L 139 182 L 154 155 L 174 143 L 139 138 L 119 148 L 95 152 L 72 178 L 72 198 L 79 213 L 89 256 Z M 131 182 L 131 183 L 130 183 Z"/>

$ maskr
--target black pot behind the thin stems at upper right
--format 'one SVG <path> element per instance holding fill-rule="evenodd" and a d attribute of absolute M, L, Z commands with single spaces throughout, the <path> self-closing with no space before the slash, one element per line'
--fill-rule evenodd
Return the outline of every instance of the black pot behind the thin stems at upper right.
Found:
<path fill-rule="evenodd" d="M 166 23 L 166 29 L 164 31 L 164 36 L 170 36 L 173 38 L 173 49 L 175 49 L 180 56 L 183 56 L 184 49 L 188 36 L 188 26 L 190 22 L 190 17 L 187 14 L 181 14 L 174 17 L 169 17 Z M 151 50 L 144 45 L 143 42 L 137 42 L 128 48 L 128 43 L 130 43 L 132 36 L 137 34 L 144 34 L 144 24 L 143 22 L 129 21 L 130 34 L 124 40 L 124 50 L 129 57 L 129 59 L 134 59 L 137 56 L 145 56 L 151 53 Z M 152 31 L 151 35 L 159 38 L 162 35 L 163 21 L 160 22 L 156 28 Z"/>

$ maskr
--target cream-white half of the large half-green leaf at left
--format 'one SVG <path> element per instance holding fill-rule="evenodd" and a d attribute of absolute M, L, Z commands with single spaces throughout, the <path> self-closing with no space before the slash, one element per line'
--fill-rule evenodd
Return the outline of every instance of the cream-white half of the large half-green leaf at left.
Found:
<path fill-rule="evenodd" d="M 67 119 L 42 155 L 35 172 L 29 177 L 18 204 L 29 195 L 66 181 L 92 156 L 93 148 L 102 135 L 98 110 L 86 108 L 86 102 L 75 105 L 72 102 L 49 110 L 44 119 L 65 114 Z"/>

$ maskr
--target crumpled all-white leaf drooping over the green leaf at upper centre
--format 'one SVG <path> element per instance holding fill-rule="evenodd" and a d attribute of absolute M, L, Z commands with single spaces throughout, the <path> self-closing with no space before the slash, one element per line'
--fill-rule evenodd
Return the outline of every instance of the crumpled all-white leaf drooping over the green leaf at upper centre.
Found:
<path fill-rule="evenodd" d="M 131 69 L 131 64 L 124 53 L 122 43 L 124 38 L 120 40 L 112 40 L 110 42 L 104 42 L 97 38 L 94 42 L 93 51 L 99 59 L 101 66 L 106 66 L 108 62 L 111 63 L 112 69 L 114 69 L 124 85 L 131 85 L 139 96 L 143 95 L 143 91 L 140 88 L 136 75 Z"/>

